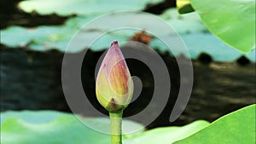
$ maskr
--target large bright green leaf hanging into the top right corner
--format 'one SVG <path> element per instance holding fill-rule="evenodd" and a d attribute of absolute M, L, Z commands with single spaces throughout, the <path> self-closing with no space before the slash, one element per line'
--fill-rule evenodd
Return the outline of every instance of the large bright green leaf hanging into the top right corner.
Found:
<path fill-rule="evenodd" d="M 244 53 L 255 49 L 255 0 L 191 0 L 191 4 L 225 43 Z"/>

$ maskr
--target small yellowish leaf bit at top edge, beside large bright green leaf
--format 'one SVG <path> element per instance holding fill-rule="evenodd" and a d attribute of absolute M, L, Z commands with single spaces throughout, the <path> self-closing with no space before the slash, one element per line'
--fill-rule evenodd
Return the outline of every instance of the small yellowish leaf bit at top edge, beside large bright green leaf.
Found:
<path fill-rule="evenodd" d="M 187 14 L 195 11 L 191 6 L 190 0 L 177 0 L 176 5 L 179 14 Z"/>

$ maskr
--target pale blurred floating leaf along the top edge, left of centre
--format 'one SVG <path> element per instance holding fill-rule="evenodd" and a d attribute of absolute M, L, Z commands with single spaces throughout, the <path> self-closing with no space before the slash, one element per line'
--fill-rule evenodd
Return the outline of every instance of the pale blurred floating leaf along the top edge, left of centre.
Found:
<path fill-rule="evenodd" d="M 19 3 L 20 9 L 27 13 L 59 15 L 106 14 L 120 10 L 143 10 L 149 3 L 160 3 L 163 0 L 26 0 Z"/>

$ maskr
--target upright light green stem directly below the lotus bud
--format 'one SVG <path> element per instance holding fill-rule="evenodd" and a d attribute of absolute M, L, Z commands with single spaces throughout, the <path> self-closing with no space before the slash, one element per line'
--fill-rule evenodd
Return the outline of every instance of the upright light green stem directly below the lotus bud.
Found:
<path fill-rule="evenodd" d="M 123 111 L 109 112 L 111 125 L 111 144 L 122 144 L 122 117 Z"/>

